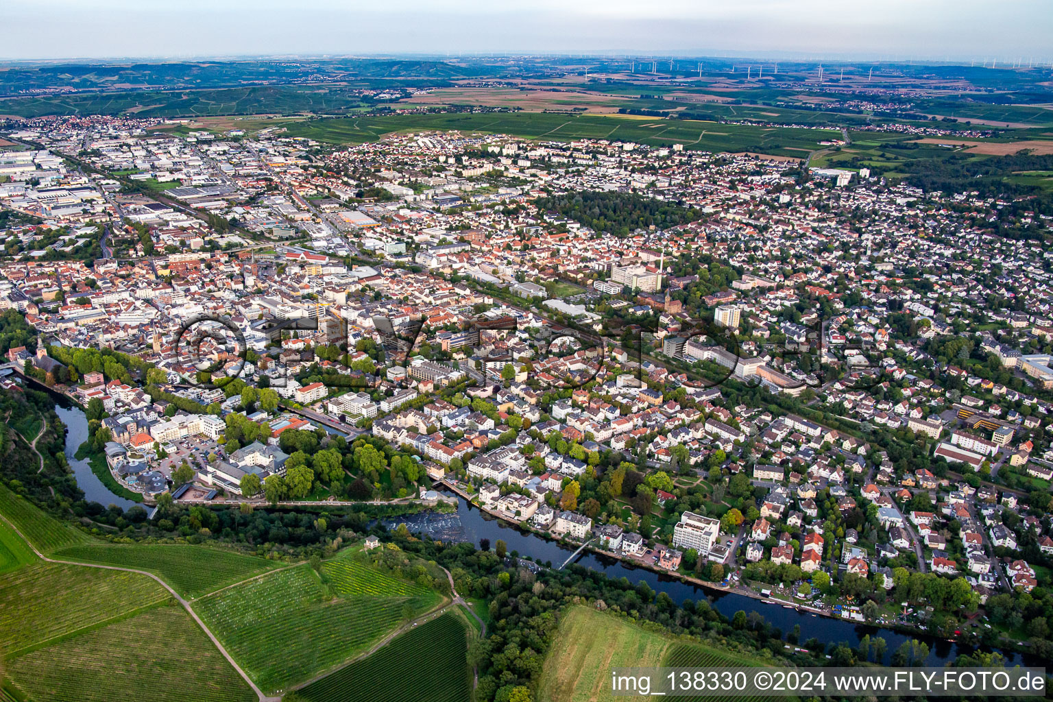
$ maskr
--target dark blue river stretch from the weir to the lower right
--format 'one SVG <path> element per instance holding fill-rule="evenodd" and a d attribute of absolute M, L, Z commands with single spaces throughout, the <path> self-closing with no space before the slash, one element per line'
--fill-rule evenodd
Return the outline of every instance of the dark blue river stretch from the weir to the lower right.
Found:
<path fill-rule="evenodd" d="M 446 493 L 446 490 L 443 492 Z M 453 495 L 452 493 L 446 494 Z M 554 566 L 561 564 L 575 550 L 574 546 L 567 546 L 556 541 L 544 539 L 537 534 L 519 529 L 492 515 L 480 512 L 478 507 L 470 504 L 460 496 L 457 496 L 456 514 L 425 512 L 388 519 L 384 520 L 384 523 L 390 527 L 404 523 L 411 531 L 429 534 L 434 539 L 441 539 L 443 541 L 478 544 L 480 539 L 490 539 L 490 543 L 495 544 L 500 539 L 508 544 L 510 553 L 515 550 L 519 556 L 530 557 L 540 563 L 551 561 Z M 917 639 L 929 646 L 927 665 L 941 665 L 948 661 L 953 661 L 959 654 L 971 651 L 969 647 L 960 646 L 943 639 L 926 636 L 908 636 L 889 628 L 855 624 L 830 617 L 821 617 L 788 608 L 780 604 L 766 603 L 761 600 L 746 597 L 744 595 L 701 587 L 683 582 L 679 578 L 630 565 L 618 559 L 601 556 L 589 550 L 583 551 L 575 563 L 592 568 L 593 570 L 602 571 L 609 578 L 625 578 L 633 584 L 641 581 L 645 582 L 652 589 L 657 593 L 668 594 L 677 603 L 684 600 L 709 600 L 714 609 L 729 619 L 741 609 L 747 614 L 756 611 L 770 624 L 782 629 L 783 634 L 792 631 L 795 625 L 799 625 L 799 641 L 801 644 L 814 637 L 823 643 L 845 642 L 852 647 L 856 647 L 862 637 L 867 635 L 870 635 L 871 639 L 875 636 L 880 636 L 887 644 L 886 663 L 889 662 L 892 654 L 895 653 L 900 644 L 911 639 Z M 1010 663 L 1029 664 L 1022 661 L 1021 657 L 1017 654 L 1002 651 L 1002 655 Z"/>

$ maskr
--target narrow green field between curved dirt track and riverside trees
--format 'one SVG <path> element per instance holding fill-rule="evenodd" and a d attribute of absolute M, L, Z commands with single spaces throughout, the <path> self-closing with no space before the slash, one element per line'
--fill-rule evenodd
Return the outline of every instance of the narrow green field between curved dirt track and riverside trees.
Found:
<path fill-rule="evenodd" d="M 55 558 L 146 570 L 185 598 L 201 597 L 276 566 L 255 556 L 191 544 L 90 543 L 64 548 Z"/>

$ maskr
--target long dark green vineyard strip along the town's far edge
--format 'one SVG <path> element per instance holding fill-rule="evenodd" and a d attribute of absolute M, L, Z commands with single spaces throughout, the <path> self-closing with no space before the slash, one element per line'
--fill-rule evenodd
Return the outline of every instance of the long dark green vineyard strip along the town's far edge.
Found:
<path fill-rule="evenodd" d="M 553 141 L 588 138 L 632 141 L 652 146 L 679 143 L 692 149 L 759 152 L 796 158 L 804 158 L 810 152 L 819 148 L 819 141 L 840 136 L 840 132 L 831 129 L 548 113 L 437 113 L 349 117 L 293 122 L 285 126 L 290 136 L 338 144 L 378 141 L 383 135 L 393 132 L 457 129 Z"/>

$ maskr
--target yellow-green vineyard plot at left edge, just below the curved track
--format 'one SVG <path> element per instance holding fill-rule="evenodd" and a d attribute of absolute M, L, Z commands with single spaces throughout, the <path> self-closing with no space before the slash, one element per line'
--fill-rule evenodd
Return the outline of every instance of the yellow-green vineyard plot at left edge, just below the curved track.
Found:
<path fill-rule="evenodd" d="M 6 655 L 163 602 L 171 595 L 146 576 L 39 563 L 0 576 L 0 641 Z"/>

